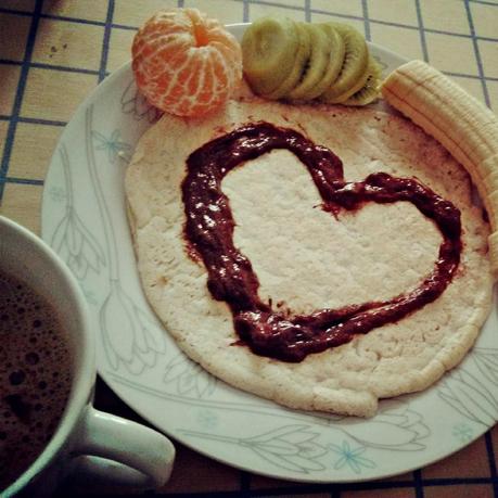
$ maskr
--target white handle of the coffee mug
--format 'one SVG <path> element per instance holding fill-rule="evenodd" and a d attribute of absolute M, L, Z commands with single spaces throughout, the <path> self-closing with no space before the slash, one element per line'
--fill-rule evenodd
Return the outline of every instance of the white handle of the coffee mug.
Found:
<path fill-rule="evenodd" d="M 157 431 L 90 406 L 72 454 L 77 481 L 157 488 L 171 474 L 175 447 Z"/>

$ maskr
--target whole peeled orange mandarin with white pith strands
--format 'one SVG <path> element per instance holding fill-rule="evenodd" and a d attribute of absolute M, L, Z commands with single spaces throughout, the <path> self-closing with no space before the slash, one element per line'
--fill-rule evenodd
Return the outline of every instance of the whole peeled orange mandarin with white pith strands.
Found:
<path fill-rule="evenodd" d="M 178 116 L 222 105 L 242 78 L 239 42 L 196 9 L 157 12 L 135 36 L 131 54 L 141 92 Z"/>

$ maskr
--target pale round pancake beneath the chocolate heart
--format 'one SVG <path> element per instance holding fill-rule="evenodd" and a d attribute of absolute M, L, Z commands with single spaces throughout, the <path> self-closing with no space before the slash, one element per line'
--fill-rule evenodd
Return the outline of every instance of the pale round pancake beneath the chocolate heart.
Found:
<path fill-rule="evenodd" d="M 460 266 L 433 303 L 398 322 L 292 363 L 235 344 L 232 315 L 215 301 L 202 261 L 189 256 L 181 182 L 188 156 L 241 125 L 293 128 L 341 157 L 347 181 L 385 171 L 417 177 L 462 216 Z M 442 235 L 412 204 L 320 208 L 309 173 L 274 150 L 224 179 L 235 246 L 250 258 L 261 301 L 291 314 L 390 299 L 433 269 Z M 202 119 L 165 115 L 140 140 L 126 174 L 138 268 L 153 309 L 193 360 L 227 383 L 282 405 L 372 416 L 379 398 L 423 390 L 474 343 L 490 306 L 488 227 L 465 170 L 421 129 L 370 108 L 289 106 L 246 99 Z M 166 333 L 166 332 L 165 332 Z"/>

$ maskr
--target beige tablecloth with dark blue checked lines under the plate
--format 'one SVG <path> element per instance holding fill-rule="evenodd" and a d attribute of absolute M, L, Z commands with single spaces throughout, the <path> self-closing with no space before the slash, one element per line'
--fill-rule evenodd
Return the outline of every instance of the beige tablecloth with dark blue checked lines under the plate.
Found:
<path fill-rule="evenodd" d="M 0 0 L 1 214 L 39 232 L 43 179 L 64 126 L 82 99 L 128 61 L 137 27 L 169 7 L 196 7 L 226 24 L 276 13 L 301 21 L 347 22 L 371 41 L 430 62 L 498 112 L 498 0 Z M 102 382 L 95 404 L 140 420 Z M 261 477 L 177 448 L 173 477 L 156 491 L 159 495 L 498 496 L 496 427 L 416 472 L 342 485 Z M 59 496 L 86 493 L 66 484 Z"/>

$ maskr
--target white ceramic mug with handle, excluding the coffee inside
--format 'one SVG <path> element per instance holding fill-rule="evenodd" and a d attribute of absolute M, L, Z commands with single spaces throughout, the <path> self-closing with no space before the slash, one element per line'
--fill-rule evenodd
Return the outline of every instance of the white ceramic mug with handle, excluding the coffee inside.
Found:
<path fill-rule="evenodd" d="M 169 478 L 175 448 L 164 435 L 95 410 L 95 340 L 86 301 L 65 264 L 41 239 L 0 216 L 0 270 L 23 280 L 59 311 L 74 354 L 73 383 L 59 426 L 35 462 L 5 490 L 48 495 L 69 473 L 135 487 L 159 487 Z M 91 475 L 92 478 L 88 478 Z"/>

